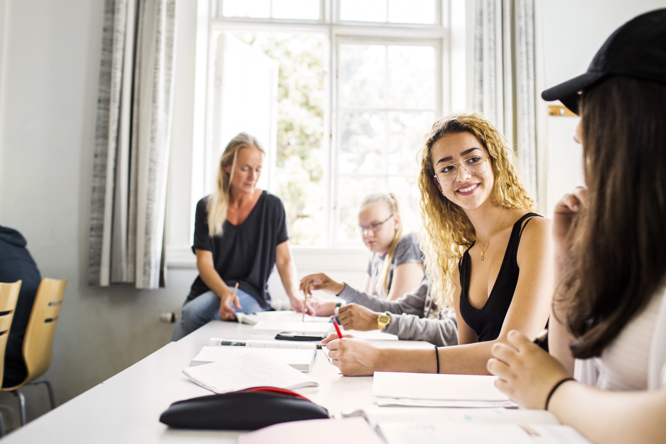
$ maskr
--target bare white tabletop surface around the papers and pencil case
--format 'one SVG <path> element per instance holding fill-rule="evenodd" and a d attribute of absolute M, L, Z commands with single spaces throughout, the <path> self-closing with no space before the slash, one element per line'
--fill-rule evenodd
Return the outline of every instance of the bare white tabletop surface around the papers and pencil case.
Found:
<path fill-rule="evenodd" d="M 238 432 L 175 430 L 159 422 L 172 402 L 212 394 L 182 373 L 210 337 L 269 339 L 272 335 L 257 333 L 244 324 L 212 321 L 13 431 L 2 443 L 236 443 Z M 417 341 L 376 344 L 433 347 Z M 339 375 L 321 350 L 308 375 L 320 386 L 298 392 L 332 414 L 373 405 L 372 377 Z"/>

